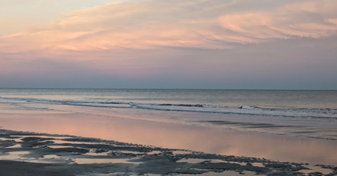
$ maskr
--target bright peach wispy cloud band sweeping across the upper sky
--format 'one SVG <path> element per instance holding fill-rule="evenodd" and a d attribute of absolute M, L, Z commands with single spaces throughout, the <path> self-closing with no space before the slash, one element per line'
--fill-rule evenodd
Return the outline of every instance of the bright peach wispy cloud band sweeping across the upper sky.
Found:
<path fill-rule="evenodd" d="M 119 1 L 77 10 L 47 26 L 0 38 L 8 52 L 154 47 L 227 49 L 273 38 L 324 38 L 337 30 L 337 1 Z"/>

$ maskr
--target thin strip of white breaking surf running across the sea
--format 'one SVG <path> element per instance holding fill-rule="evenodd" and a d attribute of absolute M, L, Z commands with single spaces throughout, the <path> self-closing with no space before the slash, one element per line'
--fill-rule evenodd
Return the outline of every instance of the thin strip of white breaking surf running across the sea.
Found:
<path fill-rule="evenodd" d="M 43 103 L 43 104 L 61 104 L 91 106 L 102 108 L 136 108 L 147 110 L 169 110 L 184 112 L 210 112 L 223 114 L 239 115 L 267 115 L 281 117 L 311 117 L 311 118 L 337 118 L 337 109 L 332 108 L 259 108 L 251 105 L 241 106 L 221 106 L 205 104 L 174 104 L 174 103 L 136 103 L 118 100 L 55 100 L 42 98 L 11 98 L 1 97 L 2 101 L 15 101 L 24 103 Z"/>

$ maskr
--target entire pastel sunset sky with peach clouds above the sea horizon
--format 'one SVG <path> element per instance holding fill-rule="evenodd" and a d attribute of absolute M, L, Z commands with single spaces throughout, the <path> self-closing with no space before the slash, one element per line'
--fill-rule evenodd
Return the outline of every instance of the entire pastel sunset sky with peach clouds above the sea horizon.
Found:
<path fill-rule="evenodd" d="M 1 0 L 0 87 L 337 89 L 337 1 Z"/>

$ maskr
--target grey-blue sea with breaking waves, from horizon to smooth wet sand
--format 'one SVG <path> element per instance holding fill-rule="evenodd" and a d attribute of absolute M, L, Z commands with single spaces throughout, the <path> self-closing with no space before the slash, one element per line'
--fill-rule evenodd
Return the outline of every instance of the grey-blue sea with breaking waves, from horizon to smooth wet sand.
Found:
<path fill-rule="evenodd" d="M 44 105 L 337 118 L 337 91 L 199 89 L 0 89 L 2 109 Z"/>

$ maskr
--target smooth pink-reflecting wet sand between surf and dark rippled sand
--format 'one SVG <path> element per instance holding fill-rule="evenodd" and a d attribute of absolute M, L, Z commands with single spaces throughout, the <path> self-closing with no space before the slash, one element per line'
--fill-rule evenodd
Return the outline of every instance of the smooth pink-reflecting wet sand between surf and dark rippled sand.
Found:
<path fill-rule="evenodd" d="M 139 110 L 129 111 L 136 115 Z M 121 115 L 116 110 L 106 114 L 109 115 L 88 112 L 12 113 L 1 115 L 1 126 L 18 131 L 80 135 L 213 154 L 337 165 L 337 141 L 333 140 L 172 124 L 165 120 L 153 122 L 145 120 L 145 117 L 128 119 L 127 113 Z"/>

